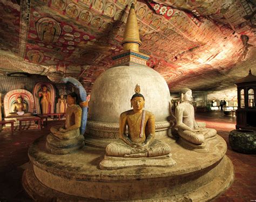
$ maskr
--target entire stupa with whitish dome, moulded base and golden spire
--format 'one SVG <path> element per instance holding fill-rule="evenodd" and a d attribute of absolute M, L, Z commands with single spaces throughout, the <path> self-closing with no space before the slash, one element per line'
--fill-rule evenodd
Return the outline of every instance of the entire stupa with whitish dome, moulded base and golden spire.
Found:
<path fill-rule="evenodd" d="M 156 137 L 166 136 L 170 128 L 170 92 L 164 78 L 146 66 L 150 58 L 139 52 L 141 41 L 134 11 L 131 5 L 127 18 L 124 52 L 113 57 L 115 66 L 102 73 L 91 90 L 85 142 L 87 145 L 105 147 L 118 138 L 119 116 L 131 109 L 134 87 L 140 86 L 145 97 L 145 110 L 156 117 Z"/>

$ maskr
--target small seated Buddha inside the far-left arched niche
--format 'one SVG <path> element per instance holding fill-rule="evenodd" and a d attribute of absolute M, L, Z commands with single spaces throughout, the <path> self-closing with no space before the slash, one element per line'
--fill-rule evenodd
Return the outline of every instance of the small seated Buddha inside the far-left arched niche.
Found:
<path fill-rule="evenodd" d="M 31 113 L 28 112 L 28 105 L 24 102 L 21 94 L 16 96 L 16 102 L 11 105 L 11 111 L 12 113 L 9 113 L 9 117 L 31 116 Z"/>

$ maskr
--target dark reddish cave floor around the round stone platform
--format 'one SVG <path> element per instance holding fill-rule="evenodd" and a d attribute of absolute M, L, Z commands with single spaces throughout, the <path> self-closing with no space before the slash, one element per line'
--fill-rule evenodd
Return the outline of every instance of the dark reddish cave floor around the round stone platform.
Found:
<path fill-rule="evenodd" d="M 235 117 L 226 116 L 219 111 L 197 113 L 197 121 L 204 121 L 208 128 L 215 128 L 227 142 L 227 156 L 234 165 L 235 179 L 231 187 L 215 198 L 219 201 L 256 201 L 256 156 L 239 154 L 231 150 L 228 133 L 235 129 Z M 0 133 L 0 202 L 32 201 L 22 187 L 21 179 L 24 165 L 29 161 L 27 152 L 30 143 L 37 137 L 48 134 L 50 127 L 63 121 L 48 122 L 42 130 L 29 130 L 13 135 Z"/>

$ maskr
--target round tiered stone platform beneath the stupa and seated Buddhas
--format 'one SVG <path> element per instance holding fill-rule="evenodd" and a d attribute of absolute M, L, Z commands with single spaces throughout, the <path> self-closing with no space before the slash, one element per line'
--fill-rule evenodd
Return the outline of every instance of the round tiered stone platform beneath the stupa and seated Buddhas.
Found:
<path fill-rule="evenodd" d="M 29 148 L 31 166 L 23 173 L 23 186 L 39 201 L 206 201 L 230 186 L 233 165 L 220 136 L 208 142 L 210 151 L 187 150 L 171 138 L 170 168 L 100 170 L 105 150 L 84 147 L 75 154 L 52 155 L 45 136 Z"/>

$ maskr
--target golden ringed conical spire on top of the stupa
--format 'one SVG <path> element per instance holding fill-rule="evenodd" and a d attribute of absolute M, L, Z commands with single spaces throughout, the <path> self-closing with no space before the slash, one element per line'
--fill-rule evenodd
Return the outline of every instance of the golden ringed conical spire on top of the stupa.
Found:
<path fill-rule="evenodd" d="M 124 51 L 132 50 L 139 52 L 139 46 L 142 45 L 142 41 L 139 39 L 139 27 L 137 22 L 136 13 L 134 10 L 134 4 L 131 4 L 131 9 L 126 21 L 124 39 L 122 46 Z"/>

